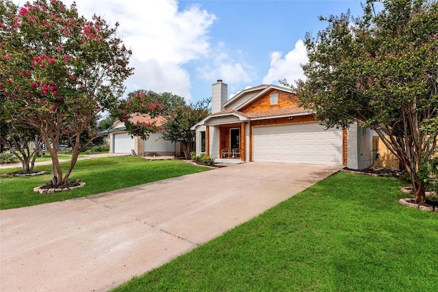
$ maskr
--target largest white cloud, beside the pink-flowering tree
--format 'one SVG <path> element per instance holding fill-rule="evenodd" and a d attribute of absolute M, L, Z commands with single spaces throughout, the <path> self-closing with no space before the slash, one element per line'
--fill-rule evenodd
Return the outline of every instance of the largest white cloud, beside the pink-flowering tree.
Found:
<path fill-rule="evenodd" d="M 209 27 L 214 14 L 192 5 L 179 11 L 177 0 L 75 0 L 79 15 L 102 16 L 133 55 L 134 75 L 126 93 L 136 89 L 172 92 L 190 99 L 190 75 L 183 64 L 209 54 Z M 18 3 L 18 0 L 15 0 Z M 22 2 L 22 1 L 21 1 Z M 64 0 L 70 7 L 73 0 Z"/>

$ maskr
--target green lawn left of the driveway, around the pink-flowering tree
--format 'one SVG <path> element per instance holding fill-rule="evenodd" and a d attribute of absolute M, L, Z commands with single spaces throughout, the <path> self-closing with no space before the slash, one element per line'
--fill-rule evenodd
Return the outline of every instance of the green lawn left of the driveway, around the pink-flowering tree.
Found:
<path fill-rule="evenodd" d="M 68 163 L 61 163 L 64 173 Z M 19 170 L 9 168 L 0 174 Z M 36 166 L 35 170 L 51 171 L 51 165 Z M 119 156 L 77 161 L 70 178 L 86 183 L 85 187 L 54 194 L 37 194 L 34 187 L 44 185 L 51 174 L 31 177 L 0 177 L 0 209 L 27 207 L 123 189 L 143 183 L 192 174 L 209 168 L 192 165 L 180 160 L 147 161 L 141 157 Z"/>

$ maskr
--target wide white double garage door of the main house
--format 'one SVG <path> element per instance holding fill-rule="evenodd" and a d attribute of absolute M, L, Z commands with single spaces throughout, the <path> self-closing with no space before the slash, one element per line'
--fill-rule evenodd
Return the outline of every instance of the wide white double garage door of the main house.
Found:
<path fill-rule="evenodd" d="M 342 165 L 342 131 L 318 123 L 254 127 L 253 160 Z"/>

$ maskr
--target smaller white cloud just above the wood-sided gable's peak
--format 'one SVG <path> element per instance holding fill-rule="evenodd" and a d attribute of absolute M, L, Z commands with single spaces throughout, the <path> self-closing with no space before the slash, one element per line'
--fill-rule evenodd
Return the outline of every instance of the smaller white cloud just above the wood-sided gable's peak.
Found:
<path fill-rule="evenodd" d="M 302 40 L 296 42 L 294 49 L 289 51 L 284 58 L 281 52 L 271 53 L 271 63 L 268 74 L 263 77 L 265 84 L 278 84 L 279 79 L 287 79 L 294 84 L 297 79 L 305 79 L 304 72 L 300 64 L 308 62 L 305 44 Z"/>

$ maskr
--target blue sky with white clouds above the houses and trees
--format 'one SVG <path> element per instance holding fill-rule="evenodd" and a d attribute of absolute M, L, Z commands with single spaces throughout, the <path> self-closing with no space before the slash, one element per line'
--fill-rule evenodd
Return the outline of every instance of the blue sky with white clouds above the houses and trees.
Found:
<path fill-rule="evenodd" d="M 24 3 L 23 0 L 14 0 Z M 66 5 L 73 0 L 64 0 Z M 190 101 L 211 96 L 222 79 L 229 95 L 261 83 L 302 78 L 302 40 L 326 27 L 318 16 L 351 10 L 360 0 L 76 0 L 79 14 L 103 16 L 133 51 L 127 91 L 172 92 Z"/>

